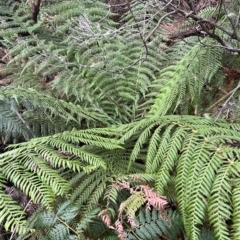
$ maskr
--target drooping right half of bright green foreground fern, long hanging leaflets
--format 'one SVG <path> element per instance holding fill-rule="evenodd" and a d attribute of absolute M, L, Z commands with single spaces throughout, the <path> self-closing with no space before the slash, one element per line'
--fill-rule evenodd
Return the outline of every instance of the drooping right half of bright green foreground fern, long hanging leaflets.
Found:
<path fill-rule="evenodd" d="M 156 174 L 155 189 L 160 194 L 165 195 L 168 187 L 175 185 L 178 207 L 191 239 L 198 239 L 199 226 L 207 216 L 218 239 L 238 234 L 236 227 L 229 231 L 227 222 L 234 216 L 237 224 L 238 210 L 231 202 L 236 201 L 233 193 L 239 178 L 239 129 L 239 125 L 211 119 L 165 116 L 132 125 L 122 138 L 137 138 L 128 169 L 142 159 L 146 173 Z"/>

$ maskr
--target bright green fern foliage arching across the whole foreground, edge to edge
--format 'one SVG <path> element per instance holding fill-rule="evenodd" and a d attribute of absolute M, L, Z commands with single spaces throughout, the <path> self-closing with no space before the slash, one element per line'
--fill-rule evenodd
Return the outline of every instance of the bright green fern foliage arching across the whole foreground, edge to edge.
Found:
<path fill-rule="evenodd" d="M 35 201 L 47 204 L 50 202 L 50 198 L 47 199 L 47 195 L 43 197 L 41 191 L 38 195 L 35 195 L 36 190 L 34 186 L 29 189 L 25 181 L 18 184 L 16 179 L 22 179 L 22 177 L 16 172 L 16 169 L 12 168 L 14 162 L 26 162 L 25 168 L 27 167 L 30 172 L 36 171 L 34 169 L 41 162 L 41 166 L 45 169 L 44 172 L 48 172 L 48 175 L 46 173 L 43 174 L 44 172 L 41 174 L 40 170 L 42 167 L 39 165 L 39 171 L 36 173 L 40 175 L 32 176 L 32 178 L 36 178 L 36 181 L 39 181 L 37 180 L 38 178 L 45 181 L 47 184 L 46 189 L 51 187 L 53 191 L 64 193 L 69 189 L 68 186 L 66 185 L 65 190 L 63 189 L 64 183 L 61 186 L 58 185 L 57 179 L 60 179 L 60 176 L 57 176 L 54 170 L 50 170 L 47 162 L 53 167 L 61 165 L 75 171 L 80 169 L 91 171 L 91 166 L 87 166 L 85 163 L 81 163 L 82 161 L 79 161 L 84 158 L 85 161 L 93 164 L 94 168 L 102 166 L 104 169 L 109 167 L 110 169 L 107 171 L 111 171 L 112 166 L 106 165 L 110 161 L 110 159 L 106 159 L 106 156 L 110 156 L 110 158 L 114 156 L 114 152 L 111 149 L 116 148 L 118 144 L 126 147 L 130 145 L 132 150 L 127 154 L 129 158 L 128 165 L 123 160 L 126 172 L 130 174 L 129 177 L 126 174 L 121 177 L 115 173 L 115 175 L 112 175 L 112 177 L 114 176 L 113 178 L 108 177 L 107 181 L 104 180 L 105 182 L 111 183 L 117 179 L 120 181 L 121 178 L 133 179 L 130 177 L 132 169 L 135 168 L 137 162 L 142 162 L 145 165 L 145 170 L 140 168 L 136 176 L 139 176 L 138 178 L 143 179 L 143 181 L 150 181 L 149 183 L 154 186 L 155 191 L 159 194 L 171 197 L 169 201 L 177 204 L 186 233 L 191 239 L 198 239 L 201 226 L 206 226 L 207 223 L 213 227 L 217 239 L 236 239 L 235 236 L 239 234 L 239 208 L 237 200 L 240 154 L 238 149 L 240 141 L 239 129 L 239 125 L 230 125 L 224 121 L 215 123 L 211 119 L 194 116 L 165 116 L 158 119 L 146 119 L 135 124 L 123 125 L 114 134 L 113 129 L 109 129 L 108 134 L 110 134 L 109 136 L 112 137 L 112 140 L 100 137 L 103 134 L 102 129 L 89 130 L 89 133 L 92 131 L 94 135 L 89 135 L 88 130 L 85 130 L 70 133 L 71 135 L 74 134 L 73 136 L 69 135 L 69 133 L 62 133 L 52 138 L 34 139 L 29 143 L 16 145 L 15 149 L 1 156 L 2 180 L 10 179 L 14 181 L 18 187 L 26 191 Z M 97 137 L 97 133 L 98 135 L 100 134 L 99 137 Z M 122 137 L 120 134 L 122 134 Z M 114 140 L 114 135 L 119 140 Z M 96 140 L 93 140 L 93 138 L 96 138 Z M 87 143 L 89 147 L 87 145 L 86 147 L 84 145 L 81 147 L 83 149 L 86 148 L 86 150 L 94 149 L 94 146 L 96 146 L 95 148 L 99 156 L 96 158 L 93 155 L 84 153 L 81 148 L 78 150 L 76 147 L 72 147 L 68 141 L 73 141 L 75 144 L 79 141 Z M 109 150 L 100 151 L 99 147 L 106 147 Z M 54 150 L 54 148 L 57 149 Z M 108 152 L 107 155 L 106 151 Z M 109 151 L 111 152 L 110 155 Z M 71 157 L 72 154 L 73 158 Z M 115 154 L 120 156 L 118 151 Z M 13 161 L 12 156 L 14 156 L 14 162 L 9 165 L 10 158 Z M 66 159 L 63 160 L 63 157 Z M 44 159 L 47 161 L 46 163 L 44 163 Z M 10 170 L 14 174 L 9 175 Z M 29 173 L 26 172 L 25 174 Z M 102 174 L 104 172 L 99 172 L 98 176 L 100 177 Z M 147 175 L 144 177 L 145 174 L 152 175 L 152 177 L 149 178 Z M 89 179 L 87 182 L 93 183 L 93 181 L 96 181 L 95 183 L 98 185 L 99 177 L 94 177 L 94 174 L 89 175 L 89 177 L 91 176 L 93 180 Z M 80 178 L 78 175 L 76 177 L 73 183 L 79 182 L 81 179 L 80 175 Z M 100 179 L 103 180 L 104 178 L 101 177 Z M 135 177 L 135 179 L 138 178 Z M 131 181 L 133 182 L 133 180 Z M 74 194 L 72 195 L 72 200 L 74 203 L 75 199 L 79 198 L 76 201 L 77 206 L 83 204 L 82 211 L 87 213 L 94 210 L 97 204 L 94 198 L 96 198 L 96 194 L 99 196 L 104 194 L 106 185 L 103 182 L 103 191 L 96 192 L 96 194 L 89 188 L 92 192 L 91 194 L 93 196 L 95 194 L 92 202 L 84 197 L 90 196 L 86 195 L 88 194 L 87 192 L 84 193 L 84 182 L 84 179 L 80 180 L 79 190 L 76 190 L 76 197 L 74 197 Z M 172 186 L 175 189 L 173 190 L 174 194 L 171 193 L 169 195 L 169 188 L 172 188 Z M 44 191 L 47 191 L 46 189 Z M 81 193 L 84 193 L 82 195 L 83 198 Z M 115 194 L 114 196 L 116 197 L 117 195 Z M 100 200 L 99 197 L 97 199 Z M 113 198 L 111 199 L 113 200 Z M 141 199 L 139 198 L 140 202 L 142 201 Z M 134 201 L 137 201 L 137 198 Z M 139 207 L 142 203 L 137 204 L 136 202 Z M 129 206 L 127 209 L 127 211 L 132 211 L 129 209 Z M 230 223 L 231 230 L 229 229 Z"/>

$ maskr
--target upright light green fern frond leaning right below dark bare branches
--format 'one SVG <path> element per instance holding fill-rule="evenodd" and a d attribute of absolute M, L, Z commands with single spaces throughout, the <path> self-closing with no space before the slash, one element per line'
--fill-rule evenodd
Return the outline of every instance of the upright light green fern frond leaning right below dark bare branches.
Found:
<path fill-rule="evenodd" d="M 187 96 L 188 102 L 198 109 L 204 84 L 211 81 L 217 73 L 221 59 L 221 50 L 195 45 L 176 65 L 164 68 L 160 78 L 166 84 L 157 96 L 149 116 L 175 112 L 180 104 L 186 104 Z"/>

